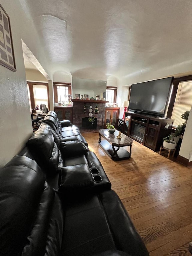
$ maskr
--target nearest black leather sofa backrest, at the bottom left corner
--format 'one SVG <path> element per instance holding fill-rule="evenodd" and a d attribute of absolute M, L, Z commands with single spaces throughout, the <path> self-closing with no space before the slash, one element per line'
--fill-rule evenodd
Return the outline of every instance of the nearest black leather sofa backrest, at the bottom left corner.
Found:
<path fill-rule="evenodd" d="M 15 156 L 0 170 L 1 255 L 21 254 L 44 182 L 41 168 L 26 156 Z"/>

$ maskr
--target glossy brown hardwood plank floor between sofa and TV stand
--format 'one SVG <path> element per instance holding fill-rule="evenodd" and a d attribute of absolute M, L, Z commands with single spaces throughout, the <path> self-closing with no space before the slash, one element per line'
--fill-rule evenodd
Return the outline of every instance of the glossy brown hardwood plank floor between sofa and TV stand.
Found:
<path fill-rule="evenodd" d="M 151 256 L 191 255 L 192 167 L 134 141 L 128 160 L 113 161 L 98 133 L 82 133 L 101 161 Z"/>

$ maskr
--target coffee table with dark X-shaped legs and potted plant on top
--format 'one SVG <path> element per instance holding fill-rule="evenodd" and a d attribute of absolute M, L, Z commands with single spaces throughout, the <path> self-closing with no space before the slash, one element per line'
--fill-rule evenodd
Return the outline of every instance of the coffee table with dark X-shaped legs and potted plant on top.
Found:
<path fill-rule="evenodd" d="M 108 129 L 99 130 L 99 145 L 105 150 L 105 152 L 111 157 L 111 159 L 119 161 L 123 159 L 128 159 L 131 157 L 131 145 L 133 140 L 126 136 L 125 134 L 121 134 L 121 140 L 117 139 L 119 131 L 115 131 L 114 134 L 110 134 Z M 105 140 L 101 140 L 103 137 Z M 130 151 L 128 152 L 125 146 L 130 147 Z"/>

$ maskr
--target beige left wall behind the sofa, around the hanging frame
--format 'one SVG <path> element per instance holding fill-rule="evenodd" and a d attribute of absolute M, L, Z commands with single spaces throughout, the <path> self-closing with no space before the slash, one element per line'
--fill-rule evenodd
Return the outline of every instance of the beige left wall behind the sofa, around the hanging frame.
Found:
<path fill-rule="evenodd" d="M 46 68 L 44 49 L 30 15 L 20 6 L 22 1 L 1 0 L 10 17 L 16 72 L 0 65 L 0 167 L 23 148 L 32 134 L 21 39 Z"/>

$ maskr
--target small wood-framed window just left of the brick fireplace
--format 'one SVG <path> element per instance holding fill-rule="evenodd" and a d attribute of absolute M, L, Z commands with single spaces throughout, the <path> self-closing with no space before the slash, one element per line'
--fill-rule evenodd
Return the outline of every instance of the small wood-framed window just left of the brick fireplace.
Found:
<path fill-rule="evenodd" d="M 68 97 L 65 98 L 64 95 L 71 94 L 71 83 L 53 82 L 53 89 L 54 89 L 55 102 L 67 101 Z"/>

